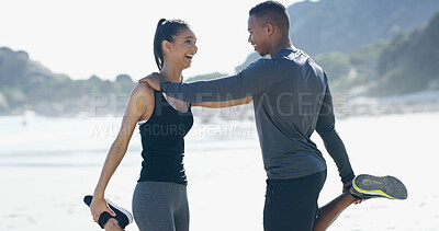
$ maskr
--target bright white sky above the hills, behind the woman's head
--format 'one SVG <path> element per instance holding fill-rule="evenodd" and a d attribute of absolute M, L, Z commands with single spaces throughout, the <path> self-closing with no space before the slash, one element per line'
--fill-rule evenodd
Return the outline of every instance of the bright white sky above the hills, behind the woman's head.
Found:
<path fill-rule="evenodd" d="M 279 0 L 285 7 L 302 0 Z M 133 80 L 157 71 L 153 39 L 159 19 L 187 21 L 199 51 L 185 78 L 234 73 L 254 51 L 248 11 L 261 0 L 0 0 L 0 47 L 29 53 L 55 73 Z"/>

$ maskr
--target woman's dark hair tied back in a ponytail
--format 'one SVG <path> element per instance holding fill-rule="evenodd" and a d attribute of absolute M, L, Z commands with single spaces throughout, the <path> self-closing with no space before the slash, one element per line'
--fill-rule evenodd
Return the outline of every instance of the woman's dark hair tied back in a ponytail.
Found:
<path fill-rule="evenodd" d="M 161 19 L 158 21 L 156 35 L 154 36 L 154 57 L 159 70 L 164 66 L 164 50 L 161 50 L 164 41 L 172 43 L 173 37 L 178 36 L 181 30 L 189 27 L 189 24 L 182 20 Z"/>

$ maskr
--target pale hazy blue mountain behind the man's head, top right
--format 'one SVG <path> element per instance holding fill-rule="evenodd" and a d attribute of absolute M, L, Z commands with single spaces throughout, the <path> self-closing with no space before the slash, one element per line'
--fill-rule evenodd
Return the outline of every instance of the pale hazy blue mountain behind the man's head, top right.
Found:
<path fill-rule="evenodd" d="M 439 10 L 438 0 L 320 0 L 288 8 L 290 37 L 311 56 L 330 51 L 350 54 L 425 24 Z M 259 59 L 254 53 L 236 68 Z"/>

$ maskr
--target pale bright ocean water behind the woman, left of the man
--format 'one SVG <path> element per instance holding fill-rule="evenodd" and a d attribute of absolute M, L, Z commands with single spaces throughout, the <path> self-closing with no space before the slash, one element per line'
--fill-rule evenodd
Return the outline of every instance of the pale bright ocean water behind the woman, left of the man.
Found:
<path fill-rule="evenodd" d="M 102 165 L 117 137 L 121 117 L 0 117 L 0 165 L 94 166 Z M 136 126 L 122 164 L 142 161 Z M 252 122 L 195 123 L 185 137 L 187 152 L 258 149 Z"/>

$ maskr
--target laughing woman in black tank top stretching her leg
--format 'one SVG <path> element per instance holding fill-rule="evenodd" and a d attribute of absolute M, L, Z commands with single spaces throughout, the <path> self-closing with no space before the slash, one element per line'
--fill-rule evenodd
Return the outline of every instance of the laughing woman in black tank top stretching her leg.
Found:
<path fill-rule="evenodd" d="M 181 82 L 181 72 L 191 66 L 196 54 L 196 36 L 181 20 L 158 22 L 154 38 L 154 55 L 162 80 Z M 121 163 L 136 124 L 139 124 L 144 161 L 140 178 L 133 195 L 133 213 L 139 230 L 187 231 L 189 207 L 187 177 L 183 168 L 183 137 L 191 129 L 191 106 L 228 107 L 249 103 L 244 99 L 221 103 L 189 105 L 155 91 L 146 83 L 131 93 L 121 130 L 105 160 L 94 189 L 90 209 L 94 221 L 102 212 L 115 213 L 104 199 L 105 187 Z M 105 230 L 122 230 L 110 219 Z"/>

